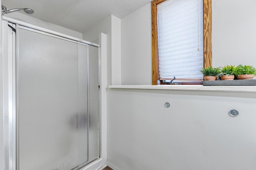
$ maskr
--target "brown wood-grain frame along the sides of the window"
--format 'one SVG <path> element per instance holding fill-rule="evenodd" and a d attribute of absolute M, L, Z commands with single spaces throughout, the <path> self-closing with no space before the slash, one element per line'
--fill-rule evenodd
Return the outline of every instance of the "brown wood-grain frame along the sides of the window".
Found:
<path fill-rule="evenodd" d="M 151 1 L 152 15 L 152 85 L 160 85 L 158 41 L 157 41 L 157 5 L 166 0 Z M 212 66 L 212 0 L 204 1 L 204 68 Z"/>

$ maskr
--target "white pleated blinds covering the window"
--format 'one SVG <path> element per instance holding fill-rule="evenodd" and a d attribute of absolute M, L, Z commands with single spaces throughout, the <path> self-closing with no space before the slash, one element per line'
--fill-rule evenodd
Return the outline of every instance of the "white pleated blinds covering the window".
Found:
<path fill-rule="evenodd" d="M 203 79 L 203 0 L 157 6 L 160 78 Z"/>

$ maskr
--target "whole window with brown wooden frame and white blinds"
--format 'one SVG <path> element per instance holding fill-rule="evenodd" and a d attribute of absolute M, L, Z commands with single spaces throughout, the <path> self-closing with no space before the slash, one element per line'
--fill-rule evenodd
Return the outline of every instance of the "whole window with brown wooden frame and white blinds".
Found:
<path fill-rule="evenodd" d="M 179 80 L 202 79 L 199 70 L 212 65 L 211 5 L 211 0 L 152 1 L 152 85 L 176 75 Z M 183 38 L 184 32 L 189 41 Z"/>

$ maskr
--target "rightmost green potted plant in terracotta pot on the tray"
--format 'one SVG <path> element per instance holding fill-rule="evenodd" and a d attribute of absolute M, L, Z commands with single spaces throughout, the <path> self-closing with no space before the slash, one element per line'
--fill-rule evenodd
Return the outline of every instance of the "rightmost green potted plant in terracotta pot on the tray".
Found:
<path fill-rule="evenodd" d="M 256 75 L 256 69 L 252 65 L 238 65 L 235 67 L 234 75 L 238 80 L 250 80 Z"/>

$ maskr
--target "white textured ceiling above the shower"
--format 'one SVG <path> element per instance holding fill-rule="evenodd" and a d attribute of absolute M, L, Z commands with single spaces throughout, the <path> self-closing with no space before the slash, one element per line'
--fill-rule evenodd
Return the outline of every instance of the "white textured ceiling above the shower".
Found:
<path fill-rule="evenodd" d="M 2 5 L 8 9 L 31 8 L 34 10 L 31 16 L 35 18 L 83 33 L 110 14 L 124 18 L 150 2 L 151 0 L 2 0 Z"/>

